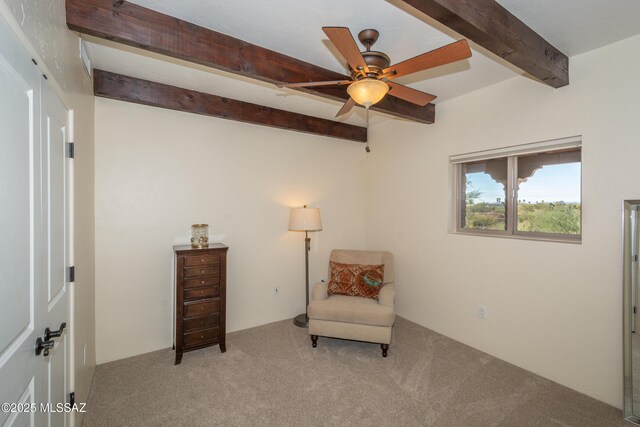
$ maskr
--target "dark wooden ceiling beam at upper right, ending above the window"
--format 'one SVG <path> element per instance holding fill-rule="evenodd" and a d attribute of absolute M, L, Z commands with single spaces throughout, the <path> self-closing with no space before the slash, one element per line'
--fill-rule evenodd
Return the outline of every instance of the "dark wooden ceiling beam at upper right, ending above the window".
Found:
<path fill-rule="evenodd" d="M 401 1 L 551 87 L 569 84 L 569 58 L 495 0 Z"/>

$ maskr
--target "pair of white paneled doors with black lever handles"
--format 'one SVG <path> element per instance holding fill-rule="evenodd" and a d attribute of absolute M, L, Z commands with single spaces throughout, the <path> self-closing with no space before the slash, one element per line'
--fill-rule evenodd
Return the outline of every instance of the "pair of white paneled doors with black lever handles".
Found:
<path fill-rule="evenodd" d="M 67 334 L 35 349 L 68 322 L 67 113 L 1 18 L 0 94 L 0 425 L 65 425 Z"/>

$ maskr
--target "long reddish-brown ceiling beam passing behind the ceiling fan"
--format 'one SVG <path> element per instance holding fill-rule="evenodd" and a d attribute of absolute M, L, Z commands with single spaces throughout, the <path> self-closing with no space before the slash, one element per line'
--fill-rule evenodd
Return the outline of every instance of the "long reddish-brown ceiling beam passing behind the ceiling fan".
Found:
<path fill-rule="evenodd" d="M 67 26 L 73 31 L 139 47 L 269 83 L 344 80 L 348 77 L 124 0 L 66 0 Z M 338 101 L 344 87 L 300 89 Z M 435 106 L 386 97 L 372 110 L 433 123 Z"/>

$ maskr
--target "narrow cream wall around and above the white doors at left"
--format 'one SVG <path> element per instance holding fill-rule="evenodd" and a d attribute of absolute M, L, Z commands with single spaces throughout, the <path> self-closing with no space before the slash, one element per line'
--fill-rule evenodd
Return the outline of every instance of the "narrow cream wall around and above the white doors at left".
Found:
<path fill-rule="evenodd" d="M 75 114 L 75 392 L 76 401 L 86 402 L 95 367 L 92 84 L 82 69 L 78 36 L 67 29 L 64 0 L 0 0 L 0 14 L 39 58 L 49 84 Z"/>

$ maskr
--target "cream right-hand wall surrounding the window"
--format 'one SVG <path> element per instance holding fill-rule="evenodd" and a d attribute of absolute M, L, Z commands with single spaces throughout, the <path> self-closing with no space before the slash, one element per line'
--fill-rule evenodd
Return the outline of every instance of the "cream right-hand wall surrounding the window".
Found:
<path fill-rule="evenodd" d="M 638 51 L 635 37 L 574 57 L 561 89 L 517 77 L 438 104 L 430 127 L 376 125 L 368 162 L 367 246 L 396 256 L 401 316 L 617 407 L 621 208 L 640 197 Z M 572 135 L 583 135 L 582 244 L 448 232 L 448 156 Z"/>

